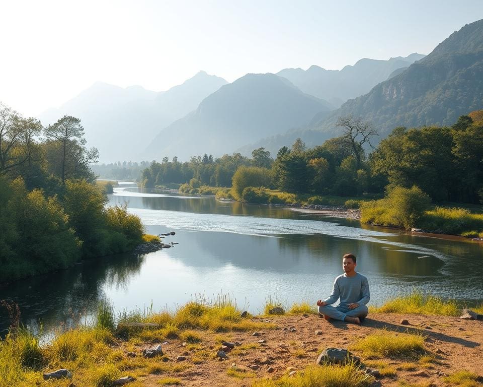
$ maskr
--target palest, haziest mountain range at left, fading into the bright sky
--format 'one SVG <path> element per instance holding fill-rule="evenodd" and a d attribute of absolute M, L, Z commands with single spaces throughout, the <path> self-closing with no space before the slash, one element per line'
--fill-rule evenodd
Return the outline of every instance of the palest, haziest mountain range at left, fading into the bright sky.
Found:
<path fill-rule="evenodd" d="M 140 150 L 161 128 L 195 110 L 206 96 L 226 83 L 205 72 L 165 92 L 96 82 L 60 108 L 49 109 L 39 118 L 44 125 L 65 114 L 80 118 L 88 146 L 99 149 L 101 162 L 145 160 Z"/>

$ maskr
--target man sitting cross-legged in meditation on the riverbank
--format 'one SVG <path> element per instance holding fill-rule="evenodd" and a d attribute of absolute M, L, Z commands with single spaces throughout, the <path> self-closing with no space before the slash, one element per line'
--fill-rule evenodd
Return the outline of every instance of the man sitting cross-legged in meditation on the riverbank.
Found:
<path fill-rule="evenodd" d="M 332 294 L 324 301 L 318 300 L 318 312 L 326 319 L 335 318 L 341 321 L 360 324 L 369 311 L 369 283 L 362 274 L 356 273 L 357 259 L 354 254 L 345 254 L 342 260 L 344 274 L 334 281 Z M 337 307 L 334 302 L 341 299 Z"/>

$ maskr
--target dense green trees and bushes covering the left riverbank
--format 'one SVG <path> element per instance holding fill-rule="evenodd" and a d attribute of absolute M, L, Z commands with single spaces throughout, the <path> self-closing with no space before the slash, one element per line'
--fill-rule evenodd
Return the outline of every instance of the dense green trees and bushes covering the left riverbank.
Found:
<path fill-rule="evenodd" d="M 81 121 L 43 127 L 0 103 L 0 282 L 125 251 L 143 226 L 126 207 L 105 209 Z"/>

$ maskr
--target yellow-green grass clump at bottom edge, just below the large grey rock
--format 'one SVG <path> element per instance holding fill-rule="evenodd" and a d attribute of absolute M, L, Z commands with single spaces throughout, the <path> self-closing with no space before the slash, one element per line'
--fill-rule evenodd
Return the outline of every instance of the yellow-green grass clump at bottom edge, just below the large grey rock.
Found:
<path fill-rule="evenodd" d="M 253 387 L 369 387 L 374 378 L 359 372 L 354 364 L 306 367 L 294 376 L 257 380 Z"/>

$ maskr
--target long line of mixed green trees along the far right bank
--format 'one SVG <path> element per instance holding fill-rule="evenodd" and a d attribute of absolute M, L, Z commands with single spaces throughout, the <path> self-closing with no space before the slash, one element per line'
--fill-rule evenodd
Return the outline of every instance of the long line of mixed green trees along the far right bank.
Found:
<path fill-rule="evenodd" d="M 260 187 L 382 197 L 394 187 L 417 186 L 432 201 L 476 204 L 483 199 L 482 116 L 482 111 L 472 112 L 450 127 L 397 127 L 376 148 L 370 146 L 376 128 L 352 116 L 340 117 L 341 136 L 311 149 L 297 139 L 291 148 L 282 147 L 275 159 L 264 148 L 253 151 L 252 158 L 233 154 L 215 159 L 205 154 L 185 163 L 165 158 L 144 169 L 141 182 L 146 187 L 183 183 L 182 190 L 188 192 L 203 185 L 232 186 L 224 193 L 258 202 L 266 198 Z"/>

